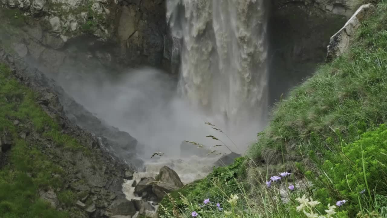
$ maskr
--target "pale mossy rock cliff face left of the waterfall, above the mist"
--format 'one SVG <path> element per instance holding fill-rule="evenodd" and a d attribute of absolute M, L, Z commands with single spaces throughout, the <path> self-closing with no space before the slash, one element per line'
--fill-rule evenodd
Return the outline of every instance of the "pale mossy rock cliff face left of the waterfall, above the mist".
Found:
<path fill-rule="evenodd" d="M 27 50 L 37 59 L 55 57 L 55 66 L 67 56 L 45 55 L 48 50 L 84 43 L 79 37 L 87 36 L 89 52 L 103 50 L 97 56 L 105 62 L 168 67 L 164 0 L 1 0 L 0 6 L 29 35 Z"/>

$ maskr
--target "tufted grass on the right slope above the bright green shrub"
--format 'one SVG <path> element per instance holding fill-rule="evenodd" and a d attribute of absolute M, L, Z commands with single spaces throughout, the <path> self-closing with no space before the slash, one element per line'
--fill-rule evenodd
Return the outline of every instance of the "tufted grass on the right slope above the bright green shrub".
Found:
<path fill-rule="evenodd" d="M 376 15 L 361 26 L 348 54 L 320 66 L 275 106 L 250 157 L 277 164 L 283 162 L 284 152 L 285 161 L 298 161 L 300 150 L 313 149 L 313 134 L 320 140 L 337 141 L 334 129 L 350 142 L 350 125 L 365 123 L 368 130 L 387 121 L 386 10 L 387 3 L 380 3 Z"/>

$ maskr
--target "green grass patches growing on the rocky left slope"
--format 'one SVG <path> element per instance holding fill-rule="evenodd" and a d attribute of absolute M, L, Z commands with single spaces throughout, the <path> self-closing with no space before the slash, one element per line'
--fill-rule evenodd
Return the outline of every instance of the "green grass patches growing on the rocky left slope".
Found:
<path fill-rule="evenodd" d="M 12 78 L 10 69 L 0 64 L 0 133 L 7 131 L 13 140 L 6 153 L 7 164 L 0 169 L 0 214 L 2 218 L 65 218 L 66 212 L 51 208 L 38 198 L 40 189 L 63 189 L 64 170 L 46 155 L 38 142 L 27 141 L 18 133 L 36 131 L 64 151 L 88 151 L 77 140 L 61 133 L 61 128 L 36 103 L 37 95 Z M 15 126 L 14 120 L 21 125 Z M 32 133 L 31 133 L 32 134 Z M 53 175 L 60 175 L 55 177 Z M 64 190 L 58 194 L 66 206 L 74 203 L 75 194 Z"/>

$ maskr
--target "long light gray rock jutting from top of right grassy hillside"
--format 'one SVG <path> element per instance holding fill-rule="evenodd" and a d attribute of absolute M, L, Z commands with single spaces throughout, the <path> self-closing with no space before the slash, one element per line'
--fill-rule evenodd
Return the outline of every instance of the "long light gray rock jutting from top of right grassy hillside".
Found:
<path fill-rule="evenodd" d="M 348 50 L 356 30 L 360 27 L 361 21 L 369 17 L 374 11 L 375 6 L 372 4 L 361 5 L 346 24 L 335 35 L 330 37 L 326 62 L 334 60 Z"/>

